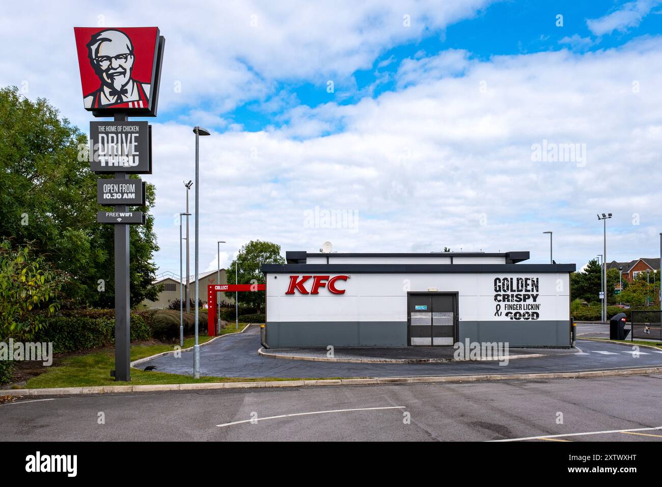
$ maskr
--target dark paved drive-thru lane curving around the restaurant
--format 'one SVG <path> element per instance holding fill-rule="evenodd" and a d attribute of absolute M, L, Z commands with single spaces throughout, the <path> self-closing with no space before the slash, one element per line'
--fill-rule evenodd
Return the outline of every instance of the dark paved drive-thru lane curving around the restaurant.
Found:
<path fill-rule="evenodd" d="M 498 362 L 446 362 L 436 364 L 344 363 L 286 360 L 258 355 L 260 327 L 252 326 L 244 333 L 227 335 L 200 347 L 201 374 L 217 377 L 398 377 L 441 376 L 465 374 L 525 374 L 545 372 L 579 372 L 614 368 L 662 366 L 662 351 L 640 349 L 634 356 L 630 347 L 596 341 L 579 341 L 582 352 L 555 354 L 536 358 Z M 156 357 L 140 364 L 140 368 L 156 366 L 159 372 L 193 375 L 193 352 Z"/>

